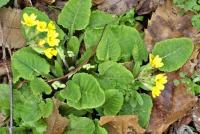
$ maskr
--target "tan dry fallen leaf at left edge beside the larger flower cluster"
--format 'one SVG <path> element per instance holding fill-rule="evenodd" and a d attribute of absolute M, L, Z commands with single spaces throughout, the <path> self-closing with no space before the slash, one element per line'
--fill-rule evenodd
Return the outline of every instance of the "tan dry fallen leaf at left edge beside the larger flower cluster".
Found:
<path fill-rule="evenodd" d="M 3 38 L 4 45 L 11 49 L 21 48 L 25 44 L 25 39 L 20 32 L 20 13 L 21 10 L 19 9 L 0 9 L 0 24 L 3 34 L 0 35 L 0 38 Z"/>

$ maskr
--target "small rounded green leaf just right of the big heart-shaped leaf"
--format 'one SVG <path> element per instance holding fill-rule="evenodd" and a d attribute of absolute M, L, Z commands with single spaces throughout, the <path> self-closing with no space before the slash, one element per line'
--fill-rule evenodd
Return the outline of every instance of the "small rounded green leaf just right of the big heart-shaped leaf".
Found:
<path fill-rule="evenodd" d="M 109 89 L 105 91 L 105 95 L 104 115 L 116 115 L 123 105 L 123 94 L 116 89 Z"/>

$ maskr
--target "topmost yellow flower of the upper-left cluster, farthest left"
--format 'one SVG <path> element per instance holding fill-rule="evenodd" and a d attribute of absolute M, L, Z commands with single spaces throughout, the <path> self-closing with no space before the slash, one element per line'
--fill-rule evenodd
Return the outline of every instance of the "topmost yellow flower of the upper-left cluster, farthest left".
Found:
<path fill-rule="evenodd" d="M 33 13 L 30 16 L 27 13 L 24 13 L 23 14 L 24 21 L 21 21 L 21 23 L 29 27 L 35 26 L 37 24 L 36 18 L 37 16 Z"/>

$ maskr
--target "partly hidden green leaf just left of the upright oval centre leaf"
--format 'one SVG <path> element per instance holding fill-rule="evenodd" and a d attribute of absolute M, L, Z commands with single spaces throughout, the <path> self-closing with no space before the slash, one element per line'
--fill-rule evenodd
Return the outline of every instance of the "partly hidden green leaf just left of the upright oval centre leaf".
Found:
<path fill-rule="evenodd" d="M 101 40 L 103 29 L 90 29 L 85 31 L 84 42 L 86 49 L 97 46 Z"/>

